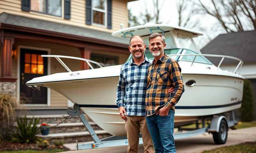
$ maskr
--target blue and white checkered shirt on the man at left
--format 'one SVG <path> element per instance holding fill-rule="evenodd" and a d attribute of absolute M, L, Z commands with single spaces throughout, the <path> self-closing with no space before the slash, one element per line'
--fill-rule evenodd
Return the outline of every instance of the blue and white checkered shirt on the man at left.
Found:
<path fill-rule="evenodd" d="M 116 89 L 116 104 L 124 106 L 127 115 L 145 116 L 145 97 L 147 91 L 148 58 L 138 66 L 133 62 L 122 65 Z"/>

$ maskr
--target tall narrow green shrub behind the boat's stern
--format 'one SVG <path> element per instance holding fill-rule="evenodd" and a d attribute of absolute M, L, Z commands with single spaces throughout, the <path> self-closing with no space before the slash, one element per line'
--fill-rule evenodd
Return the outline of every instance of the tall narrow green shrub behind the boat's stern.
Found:
<path fill-rule="evenodd" d="M 253 119 L 253 98 L 251 82 L 248 79 L 244 80 L 243 101 L 240 108 L 241 120 L 245 122 L 252 121 Z"/>

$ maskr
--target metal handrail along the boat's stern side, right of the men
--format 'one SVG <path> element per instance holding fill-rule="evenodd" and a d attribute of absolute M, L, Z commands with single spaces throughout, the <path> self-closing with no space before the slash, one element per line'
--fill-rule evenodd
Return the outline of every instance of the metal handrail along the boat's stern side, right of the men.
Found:
<path fill-rule="evenodd" d="M 240 58 L 237 58 L 237 57 L 233 57 L 233 56 L 228 56 L 228 55 L 216 55 L 216 54 L 169 54 L 167 56 L 195 56 L 195 58 L 193 59 L 193 62 L 191 63 L 191 66 L 193 65 L 193 63 L 195 62 L 195 59 L 196 59 L 196 56 L 206 56 L 206 57 L 222 57 L 219 64 L 218 64 L 218 67 L 217 69 L 220 68 L 220 65 L 221 63 L 223 62 L 224 58 L 229 58 L 229 59 L 233 59 L 233 60 L 236 60 L 236 61 L 239 61 L 239 63 L 236 65 L 236 69 L 234 70 L 233 73 L 236 73 L 237 69 L 240 67 L 242 67 L 244 61 L 241 60 Z M 241 69 L 240 69 L 241 71 Z M 239 73 L 240 73 L 239 71 Z"/>

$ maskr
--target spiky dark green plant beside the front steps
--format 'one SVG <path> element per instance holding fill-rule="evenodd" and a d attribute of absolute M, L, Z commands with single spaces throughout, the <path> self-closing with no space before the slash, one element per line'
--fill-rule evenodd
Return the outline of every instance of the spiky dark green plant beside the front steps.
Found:
<path fill-rule="evenodd" d="M 40 128 L 36 126 L 38 122 L 39 118 L 32 118 L 28 122 L 26 115 L 23 118 L 18 118 L 17 131 L 12 133 L 12 141 L 21 143 L 33 143 L 37 140 L 42 141 L 41 138 L 36 136 L 40 132 Z"/>

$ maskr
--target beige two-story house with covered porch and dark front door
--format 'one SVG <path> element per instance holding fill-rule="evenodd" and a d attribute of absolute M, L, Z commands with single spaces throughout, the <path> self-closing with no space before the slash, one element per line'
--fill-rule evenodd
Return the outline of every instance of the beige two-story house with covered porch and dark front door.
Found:
<path fill-rule="evenodd" d="M 83 57 L 106 65 L 123 64 L 129 40 L 111 33 L 128 26 L 127 3 L 132 0 L 1 0 L 0 92 L 32 98 L 31 110 L 64 109 L 60 93 L 28 88 L 34 77 L 66 72 L 55 58 Z M 72 71 L 88 69 L 85 62 L 63 59 Z M 114 102 L 113 102 L 114 103 Z M 69 105 L 71 106 L 71 105 Z"/>

